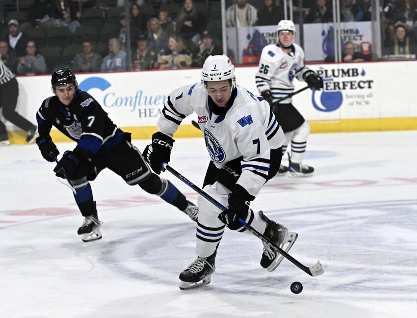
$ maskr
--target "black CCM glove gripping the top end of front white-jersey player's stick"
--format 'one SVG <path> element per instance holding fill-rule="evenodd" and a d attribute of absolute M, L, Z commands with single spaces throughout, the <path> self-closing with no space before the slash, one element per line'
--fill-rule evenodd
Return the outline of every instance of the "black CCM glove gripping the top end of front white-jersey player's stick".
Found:
<path fill-rule="evenodd" d="M 174 139 L 162 132 L 155 132 L 152 135 L 152 143 L 146 146 L 143 151 L 143 157 L 149 162 L 156 174 L 161 173 L 161 163 L 168 163 L 171 159 L 174 141 Z"/>

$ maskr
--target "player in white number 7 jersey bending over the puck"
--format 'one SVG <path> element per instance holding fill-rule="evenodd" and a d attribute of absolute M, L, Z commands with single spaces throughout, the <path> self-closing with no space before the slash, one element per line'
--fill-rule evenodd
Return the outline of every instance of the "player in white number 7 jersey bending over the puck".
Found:
<path fill-rule="evenodd" d="M 261 187 L 278 172 L 284 132 L 268 103 L 235 84 L 235 67 L 226 55 L 209 56 L 201 82 L 169 94 L 159 117 L 152 143 L 144 156 L 156 173 L 170 160 L 174 132 L 186 116 L 196 112 L 211 161 L 204 191 L 228 207 L 221 212 L 203 197 L 198 198 L 197 259 L 180 274 L 180 289 L 208 284 L 225 224 L 245 232 L 238 218 L 287 250 L 296 239 L 283 225 L 255 213 L 249 204 Z M 261 266 L 272 271 L 279 264 L 276 250 L 265 246 Z"/>

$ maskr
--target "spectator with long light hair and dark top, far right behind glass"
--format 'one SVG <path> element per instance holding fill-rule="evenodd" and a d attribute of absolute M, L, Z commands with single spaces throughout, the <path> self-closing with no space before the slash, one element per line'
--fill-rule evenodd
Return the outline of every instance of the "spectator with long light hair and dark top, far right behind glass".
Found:
<path fill-rule="evenodd" d="M 394 27 L 394 39 L 386 42 L 384 55 L 417 54 L 416 43 L 408 36 L 407 26 L 397 22 Z"/>

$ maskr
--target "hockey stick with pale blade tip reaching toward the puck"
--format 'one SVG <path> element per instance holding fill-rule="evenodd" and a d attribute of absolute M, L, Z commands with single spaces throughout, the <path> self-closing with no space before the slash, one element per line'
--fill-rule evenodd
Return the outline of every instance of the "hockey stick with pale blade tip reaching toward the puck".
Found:
<path fill-rule="evenodd" d="M 205 191 L 200 189 L 197 185 L 194 185 L 191 181 L 189 181 L 187 178 L 185 178 L 182 174 L 178 173 L 176 170 L 171 168 L 167 163 L 163 162 L 161 164 L 164 169 L 171 172 L 174 176 L 176 176 L 178 179 L 180 179 L 184 184 L 191 187 L 194 191 L 196 191 L 198 194 L 200 194 L 203 198 L 207 199 L 209 202 L 214 204 L 217 208 L 219 208 L 221 211 L 227 210 L 225 206 L 223 206 L 220 202 L 212 198 L 209 194 L 207 194 Z M 291 255 L 289 255 L 286 251 L 284 251 L 282 248 L 280 248 L 277 244 L 275 244 L 273 241 L 271 241 L 269 238 L 266 238 L 264 235 L 259 233 L 257 230 L 255 230 L 252 226 L 250 226 L 248 223 L 246 223 L 244 220 L 239 218 L 239 222 L 242 224 L 242 226 L 254 234 L 256 237 L 260 238 L 263 242 L 268 244 L 269 246 L 275 247 L 278 252 L 284 256 L 288 261 L 290 261 L 292 264 L 297 266 L 298 268 L 305 271 L 310 276 L 318 276 L 324 273 L 324 269 L 320 264 L 320 261 L 317 261 L 317 263 L 311 267 L 307 267 L 300 262 L 298 262 L 296 259 L 294 259 Z"/>

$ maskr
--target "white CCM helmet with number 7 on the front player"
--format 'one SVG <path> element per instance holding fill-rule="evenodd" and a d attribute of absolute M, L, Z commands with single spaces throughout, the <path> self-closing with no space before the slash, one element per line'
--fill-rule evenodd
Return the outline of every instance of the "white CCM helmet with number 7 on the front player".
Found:
<path fill-rule="evenodd" d="M 201 70 L 201 83 L 207 90 L 207 81 L 232 80 L 232 90 L 235 89 L 235 66 L 232 61 L 225 54 L 210 55 L 204 61 L 203 69 Z"/>

